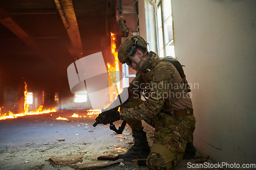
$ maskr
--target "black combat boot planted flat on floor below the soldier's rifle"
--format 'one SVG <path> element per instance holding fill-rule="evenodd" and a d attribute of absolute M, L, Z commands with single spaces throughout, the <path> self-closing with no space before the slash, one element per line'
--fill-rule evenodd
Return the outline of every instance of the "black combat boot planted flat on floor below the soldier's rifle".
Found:
<path fill-rule="evenodd" d="M 150 154 L 150 146 L 148 145 L 146 132 L 133 130 L 134 145 L 127 152 L 119 154 L 119 159 L 131 161 L 133 159 L 146 159 Z"/>

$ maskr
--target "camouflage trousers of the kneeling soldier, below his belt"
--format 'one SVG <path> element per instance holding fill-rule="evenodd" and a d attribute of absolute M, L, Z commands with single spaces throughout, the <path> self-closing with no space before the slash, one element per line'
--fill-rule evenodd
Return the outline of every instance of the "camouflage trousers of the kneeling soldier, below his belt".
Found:
<path fill-rule="evenodd" d="M 132 129 L 143 130 L 141 122 L 136 119 L 126 119 L 126 122 Z M 174 116 L 160 112 L 145 122 L 155 128 L 152 150 L 146 161 L 147 167 L 174 169 L 184 155 L 186 143 L 192 140 L 195 116 Z"/>

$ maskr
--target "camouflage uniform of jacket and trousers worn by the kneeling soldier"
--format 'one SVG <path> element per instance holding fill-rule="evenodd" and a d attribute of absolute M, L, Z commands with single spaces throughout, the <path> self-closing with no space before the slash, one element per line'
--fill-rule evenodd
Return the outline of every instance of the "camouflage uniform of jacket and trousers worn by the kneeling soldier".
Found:
<path fill-rule="evenodd" d="M 186 143 L 191 141 L 196 119 L 194 115 L 166 114 L 166 111 L 177 110 L 177 108 L 175 105 L 166 107 L 167 100 L 160 94 L 168 93 L 170 88 L 169 86 L 167 86 L 168 88 L 163 87 L 164 84 L 161 82 L 165 82 L 165 85 L 173 83 L 175 75 L 177 76 L 175 74 L 177 69 L 167 61 L 160 61 L 148 72 L 149 63 L 157 58 L 159 57 L 154 52 L 148 53 L 147 61 L 143 64 L 141 71 L 144 73 L 144 84 L 150 83 L 153 86 L 160 84 L 160 88 L 154 88 L 154 91 L 147 89 L 146 101 L 137 98 L 134 94 L 126 104 L 120 107 L 121 119 L 126 120 L 133 130 L 143 130 L 141 120 L 145 120 L 146 123 L 154 127 L 154 143 L 147 158 L 147 166 L 150 169 L 173 169 L 182 159 Z M 190 101 L 190 99 L 186 99 L 186 101 Z M 192 104 L 184 105 L 182 102 L 184 101 L 179 100 L 175 104 L 181 105 L 187 110 L 189 107 L 192 108 Z"/>

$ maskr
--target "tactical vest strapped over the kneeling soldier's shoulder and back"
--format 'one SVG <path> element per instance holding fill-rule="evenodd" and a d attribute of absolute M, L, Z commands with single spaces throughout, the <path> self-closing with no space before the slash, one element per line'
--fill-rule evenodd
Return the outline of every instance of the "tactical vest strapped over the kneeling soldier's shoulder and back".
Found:
<path fill-rule="evenodd" d="M 169 63 L 172 63 L 176 67 L 176 69 L 178 70 L 178 72 L 179 72 L 179 74 L 182 78 L 181 82 L 178 83 L 180 86 L 178 86 L 175 90 L 170 90 L 170 92 L 168 94 L 164 94 L 164 96 L 163 96 L 164 99 L 167 99 L 167 100 L 165 100 L 163 110 L 164 111 L 169 111 L 171 105 L 182 98 L 182 96 L 180 95 L 181 93 L 184 94 L 184 93 L 190 92 L 191 90 L 190 90 L 189 85 L 186 81 L 186 76 L 184 74 L 184 70 L 182 68 L 182 65 L 180 64 L 180 62 L 178 60 L 176 60 L 172 56 L 155 59 L 155 61 L 153 61 L 152 64 L 146 69 L 146 72 L 144 72 L 142 74 L 142 78 L 144 80 L 144 83 L 149 83 L 148 81 L 151 80 L 151 75 L 152 75 L 153 69 L 161 61 L 167 61 Z"/>

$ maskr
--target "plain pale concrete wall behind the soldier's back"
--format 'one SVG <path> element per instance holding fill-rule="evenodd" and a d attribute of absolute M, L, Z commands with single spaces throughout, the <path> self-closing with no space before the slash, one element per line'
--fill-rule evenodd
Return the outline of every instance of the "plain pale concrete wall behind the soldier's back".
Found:
<path fill-rule="evenodd" d="M 199 84 L 194 144 L 219 162 L 256 163 L 256 1 L 172 4 L 176 57 Z"/>

